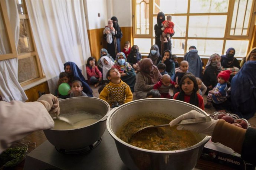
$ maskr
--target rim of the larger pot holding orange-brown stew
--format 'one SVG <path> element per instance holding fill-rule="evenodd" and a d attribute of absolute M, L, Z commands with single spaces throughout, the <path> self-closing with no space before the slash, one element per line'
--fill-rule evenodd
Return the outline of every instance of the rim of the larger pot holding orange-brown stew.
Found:
<path fill-rule="evenodd" d="M 174 100 L 174 99 L 164 99 L 164 98 L 148 98 L 148 99 L 139 99 L 139 100 L 136 100 L 136 101 L 131 101 L 131 102 L 128 102 L 128 103 L 125 103 L 124 105 L 121 105 L 117 108 L 114 108 L 112 109 L 109 113 L 108 113 L 108 119 L 107 119 L 107 122 L 106 122 L 106 127 L 108 129 L 108 132 L 110 133 L 110 135 L 115 139 L 117 140 L 118 142 L 122 143 L 123 145 L 126 145 L 128 147 L 131 147 L 132 149 L 136 149 L 136 150 L 141 150 L 141 151 L 144 151 L 144 152 L 150 152 L 150 153 L 163 153 L 163 154 L 170 154 L 170 153 L 180 153 L 180 152 L 186 152 L 186 151 L 189 151 L 189 150 L 193 150 L 197 147 L 200 147 L 201 145 L 204 145 L 210 138 L 211 136 L 206 136 L 204 137 L 204 139 L 202 139 L 200 142 L 198 142 L 196 145 L 193 145 L 193 146 L 190 146 L 190 147 L 187 147 L 185 149 L 180 149 L 180 150 L 172 150 L 172 151 L 160 151 L 160 150 L 148 150 L 148 149 L 142 149 L 140 147 L 136 147 L 136 146 L 133 146 L 133 145 L 130 145 L 126 142 L 124 142 L 123 140 L 121 140 L 119 137 L 117 137 L 115 135 L 115 133 L 112 131 L 112 128 L 110 127 L 110 122 L 111 122 L 111 119 L 113 117 L 113 115 L 115 115 L 115 113 L 118 111 L 118 110 L 121 110 L 122 108 L 124 108 L 125 106 L 128 106 L 128 105 L 132 105 L 133 103 L 138 103 L 138 102 L 144 102 L 146 100 L 151 100 L 151 101 L 163 101 L 163 100 L 166 100 L 166 101 L 174 101 L 174 102 L 177 102 L 177 103 L 183 103 L 185 105 L 191 105 L 190 103 L 187 103 L 187 102 L 183 102 L 183 101 L 178 101 L 178 100 Z M 200 110 L 200 111 L 203 111 L 203 113 L 205 115 L 208 115 L 204 110 L 198 108 L 197 106 L 194 106 L 193 107 L 196 107 L 196 109 Z"/>

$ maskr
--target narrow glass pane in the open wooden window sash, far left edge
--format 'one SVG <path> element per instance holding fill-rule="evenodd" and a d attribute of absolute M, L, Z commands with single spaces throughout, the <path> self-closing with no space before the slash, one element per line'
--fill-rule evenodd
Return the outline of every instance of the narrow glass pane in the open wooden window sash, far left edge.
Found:
<path fill-rule="evenodd" d="M 7 32 L 4 27 L 4 22 L 2 18 L 2 14 L 0 12 L 0 55 L 1 54 L 9 54 L 10 53 L 10 44 L 9 40 L 7 39 Z"/>

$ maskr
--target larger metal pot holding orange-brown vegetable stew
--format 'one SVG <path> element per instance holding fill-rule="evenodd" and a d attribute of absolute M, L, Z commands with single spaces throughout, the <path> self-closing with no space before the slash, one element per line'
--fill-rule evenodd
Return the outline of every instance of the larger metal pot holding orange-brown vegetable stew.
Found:
<path fill-rule="evenodd" d="M 203 150 L 204 144 L 210 139 L 210 136 L 199 135 L 201 140 L 196 145 L 175 151 L 154 151 L 141 149 L 129 145 L 116 136 L 116 132 L 122 128 L 130 119 L 138 115 L 149 114 L 167 114 L 168 116 L 178 117 L 190 110 L 197 110 L 204 115 L 206 112 L 200 108 L 172 99 L 141 99 L 119 106 L 108 116 L 107 129 L 114 138 L 115 144 L 124 164 L 131 170 L 191 170 L 196 166 L 197 160 Z"/>

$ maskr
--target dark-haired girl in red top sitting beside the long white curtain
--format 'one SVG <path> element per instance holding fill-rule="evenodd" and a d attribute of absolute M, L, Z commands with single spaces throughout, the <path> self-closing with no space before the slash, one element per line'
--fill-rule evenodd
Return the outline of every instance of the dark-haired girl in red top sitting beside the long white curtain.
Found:
<path fill-rule="evenodd" d="M 102 74 L 95 65 L 95 58 L 89 57 L 86 63 L 86 72 L 89 84 L 93 84 L 96 88 L 102 82 Z"/>

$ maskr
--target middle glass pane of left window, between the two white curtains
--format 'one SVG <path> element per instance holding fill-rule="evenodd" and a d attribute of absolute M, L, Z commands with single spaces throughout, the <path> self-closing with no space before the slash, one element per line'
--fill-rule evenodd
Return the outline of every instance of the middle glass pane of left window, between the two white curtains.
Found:
<path fill-rule="evenodd" d="M 18 44 L 17 50 L 18 50 L 18 54 L 23 52 L 34 51 L 27 19 L 20 20 L 20 36 L 19 36 L 19 44 Z"/>

